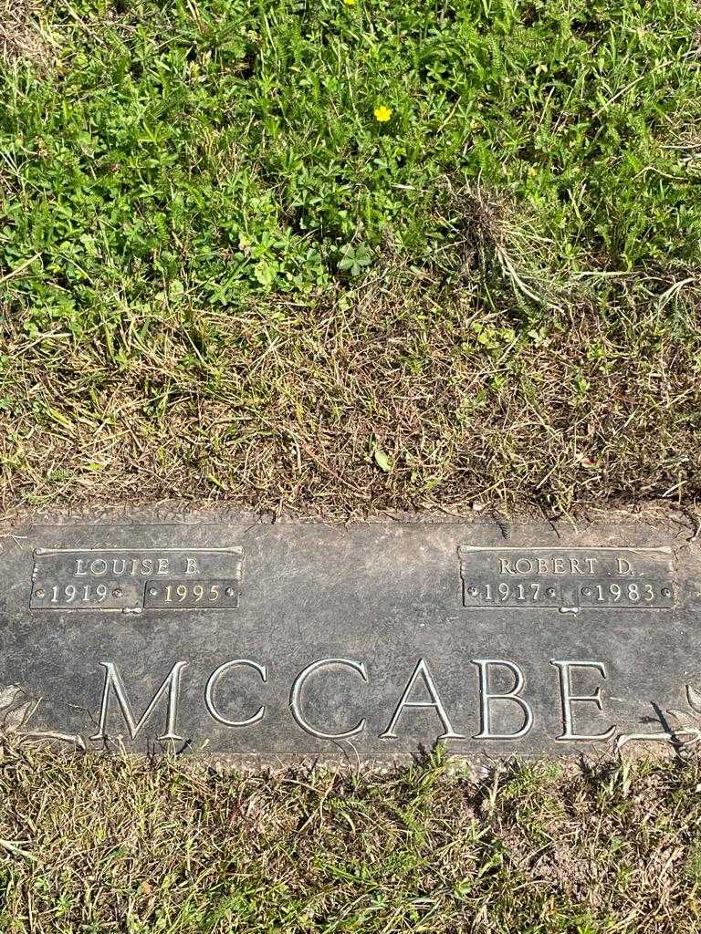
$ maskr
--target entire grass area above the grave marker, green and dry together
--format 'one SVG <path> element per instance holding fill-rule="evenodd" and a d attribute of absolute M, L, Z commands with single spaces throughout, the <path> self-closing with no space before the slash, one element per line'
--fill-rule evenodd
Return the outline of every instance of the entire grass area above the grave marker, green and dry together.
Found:
<path fill-rule="evenodd" d="M 7 511 L 694 501 L 692 0 L 4 2 Z"/>

